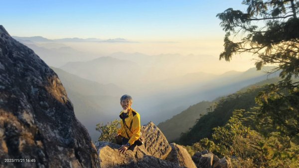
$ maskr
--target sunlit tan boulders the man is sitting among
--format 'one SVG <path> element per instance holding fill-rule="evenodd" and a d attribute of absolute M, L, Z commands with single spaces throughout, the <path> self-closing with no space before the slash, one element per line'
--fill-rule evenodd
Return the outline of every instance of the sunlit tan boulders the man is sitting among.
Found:
<path fill-rule="evenodd" d="M 125 154 L 118 151 L 120 145 L 97 142 L 101 168 L 196 168 L 187 150 L 176 144 L 170 146 L 152 122 L 142 126 L 141 132 L 145 145 Z"/>

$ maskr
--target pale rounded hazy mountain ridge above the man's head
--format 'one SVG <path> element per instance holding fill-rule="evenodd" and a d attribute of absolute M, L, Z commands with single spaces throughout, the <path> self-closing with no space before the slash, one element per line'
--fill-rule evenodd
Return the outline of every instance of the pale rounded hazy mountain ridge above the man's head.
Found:
<path fill-rule="evenodd" d="M 130 84 L 136 82 L 136 79 L 142 75 L 142 69 L 137 63 L 109 56 L 86 62 L 68 62 L 60 68 L 82 78 L 104 84 Z M 134 78 L 128 80 L 129 76 Z"/>

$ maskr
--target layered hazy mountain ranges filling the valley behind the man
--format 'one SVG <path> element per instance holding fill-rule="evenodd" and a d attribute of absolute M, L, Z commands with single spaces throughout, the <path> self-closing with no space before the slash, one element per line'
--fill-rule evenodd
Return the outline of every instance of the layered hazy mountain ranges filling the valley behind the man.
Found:
<path fill-rule="evenodd" d="M 94 130 L 97 123 L 118 119 L 119 98 L 123 94 L 133 96 L 132 107 L 141 114 L 142 124 L 149 121 L 158 124 L 198 102 L 212 101 L 278 76 L 278 73 L 267 76 L 264 71 L 269 67 L 262 71 L 251 68 L 245 72 L 213 74 L 211 71 L 221 63 L 218 57 L 211 55 L 95 54 L 91 50 L 81 51 L 69 46 L 70 43 L 76 43 L 75 46 L 88 44 L 99 40 L 97 38 L 14 38 L 53 66 L 74 104 L 76 116 L 93 140 L 99 135 Z"/>

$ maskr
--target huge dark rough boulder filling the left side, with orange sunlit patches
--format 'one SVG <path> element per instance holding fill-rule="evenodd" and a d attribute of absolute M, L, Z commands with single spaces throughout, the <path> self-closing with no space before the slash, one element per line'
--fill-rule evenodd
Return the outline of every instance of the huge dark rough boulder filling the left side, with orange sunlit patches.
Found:
<path fill-rule="evenodd" d="M 56 73 L 1 25 L 0 158 L 0 168 L 100 167 Z"/>

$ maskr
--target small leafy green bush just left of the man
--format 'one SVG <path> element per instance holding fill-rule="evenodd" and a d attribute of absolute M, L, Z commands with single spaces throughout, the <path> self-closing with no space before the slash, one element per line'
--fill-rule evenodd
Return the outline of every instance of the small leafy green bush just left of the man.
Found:
<path fill-rule="evenodd" d="M 120 128 L 120 126 L 120 120 L 114 120 L 112 122 L 109 122 L 107 125 L 103 125 L 103 123 L 97 124 L 96 130 L 101 133 L 99 141 L 112 142 L 113 138 L 117 135 L 117 130 Z"/>

